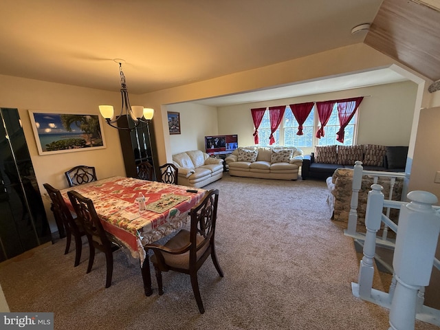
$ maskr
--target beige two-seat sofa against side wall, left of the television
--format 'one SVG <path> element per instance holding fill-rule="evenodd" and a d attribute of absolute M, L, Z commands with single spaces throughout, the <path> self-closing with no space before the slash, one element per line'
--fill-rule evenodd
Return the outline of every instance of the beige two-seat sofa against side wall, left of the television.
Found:
<path fill-rule="evenodd" d="M 179 169 L 177 184 L 182 186 L 201 188 L 223 177 L 223 159 L 200 150 L 173 155 L 173 164 Z"/>

